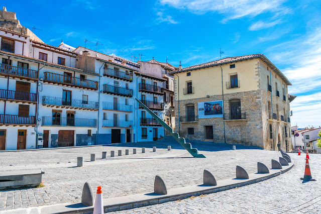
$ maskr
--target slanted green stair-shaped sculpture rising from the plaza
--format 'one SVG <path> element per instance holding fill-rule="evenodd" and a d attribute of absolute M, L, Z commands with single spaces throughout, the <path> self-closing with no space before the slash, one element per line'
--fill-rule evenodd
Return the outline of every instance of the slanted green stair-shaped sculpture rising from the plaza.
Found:
<path fill-rule="evenodd" d="M 160 119 L 157 115 L 155 115 L 150 109 L 147 108 L 146 105 L 144 105 L 140 100 L 135 98 L 138 103 L 143 106 L 143 108 L 151 114 L 151 116 L 164 127 L 164 129 L 180 144 L 182 145 L 194 158 L 205 158 L 204 155 L 198 154 L 198 150 L 196 148 L 192 148 L 192 145 L 190 143 L 186 143 L 184 138 L 180 138 L 179 134 L 174 132 L 173 129 L 168 126 L 162 119 Z"/>

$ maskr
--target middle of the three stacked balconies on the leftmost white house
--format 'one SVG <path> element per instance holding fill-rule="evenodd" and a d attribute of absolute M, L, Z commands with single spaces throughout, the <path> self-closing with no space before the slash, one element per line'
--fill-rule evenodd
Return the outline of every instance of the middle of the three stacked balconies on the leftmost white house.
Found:
<path fill-rule="evenodd" d="M 23 91 L 0 89 L 0 99 L 8 99 L 10 101 L 22 101 L 28 103 L 37 103 L 37 94 Z"/>

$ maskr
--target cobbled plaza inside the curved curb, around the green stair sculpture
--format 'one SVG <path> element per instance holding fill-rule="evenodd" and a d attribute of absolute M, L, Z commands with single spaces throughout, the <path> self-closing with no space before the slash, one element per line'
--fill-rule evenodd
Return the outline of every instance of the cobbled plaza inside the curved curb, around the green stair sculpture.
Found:
<path fill-rule="evenodd" d="M 146 144 L 133 145 L 147 147 Z M 200 146 L 200 148 L 203 147 L 206 150 L 200 152 L 206 158 L 191 158 L 191 155 L 186 153 L 175 158 L 146 159 L 136 162 L 109 164 L 111 159 L 116 158 L 145 159 L 147 156 L 168 153 L 167 149 L 157 149 L 157 152 L 153 153 L 151 152 L 152 146 L 150 146 L 150 148 L 146 149 L 145 154 L 141 154 L 141 149 L 138 148 L 137 152 L 140 154 L 97 160 L 105 162 L 102 165 L 85 167 L 63 166 L 64 163 L 69 161 L 76 162 L 77 156 L 84 156 L 85 160 L 89 160 L 90 153 L 96 153 L 97 158 L 100 158 L 101 151 L 107 151 L 109 156 L 110 150 L 122 149 L 125 152 L 124 146 L 133 145 L 124 144 L 121 145 L 122 147 L 83 147 L 18 153 L 2 152 L 0 153 L 0 163 L 5 166 L 10 164 L 32 165 L 38 162 L 60 162 L 61 166 L 57 164 L 56 168 L 43 168 L 45 171 L 43 175 L 44 187 L 0 191 L 0 210 L 55 203 L 80 202 L 82 187 L 85 181 L 90 181 L 94 189 L 96 186 L 101 185 L 105 198 L 152 192 L 155 175 L 160 175 L 165 180 L 169 189 L 201 184 L 203 169 L 211 171 L 217 179 L 224 179 L 235 176 L 237 165 L 243 166 L 249 173 L 256 172 L 257 161 L 271 166 L 271 159 L 278 160 L 280 156 L 278 152 L 254 150 L 251 147 L 244 146 L 238 147 L 244 149 L 236 151 L 219 151 L 220 148 L 218 147 L 222 146 L 224 148 L 224 145 L 212 144 Z M 157 147 L 161 146 L 158 145 Z M 228 147 L 231 149 L 232 146 L 228 145 Z M 165 148 L 165 144 L 163 148 Z M 130 151 L 132 153 L 131 149 Z"/>

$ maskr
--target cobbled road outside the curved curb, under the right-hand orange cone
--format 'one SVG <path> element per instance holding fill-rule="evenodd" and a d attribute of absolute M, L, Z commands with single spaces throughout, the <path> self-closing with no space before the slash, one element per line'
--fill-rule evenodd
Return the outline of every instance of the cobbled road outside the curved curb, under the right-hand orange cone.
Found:
<path fill-rule="evenodd" d="M 303 183 L 305 154 L 290 156 L 290 171 L 259 183 L 114 213 L 321 213 L 321 155 L 309 155 L 316 181 Z"/>

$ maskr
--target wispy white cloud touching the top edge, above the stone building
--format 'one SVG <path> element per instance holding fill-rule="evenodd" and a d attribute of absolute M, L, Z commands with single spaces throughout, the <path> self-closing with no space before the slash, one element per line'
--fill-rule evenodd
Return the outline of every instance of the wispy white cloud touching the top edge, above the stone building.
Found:
<path fill-rule="evenodd" d="M 256 17 L 269 12 L 270 15 L 284 15 L 290 12 L 282 6 L 285 0 L 160 0 L 162 5 L 169 5 L 177 9 L 186 9 L 195 14 L 214 12 L 225 14 L 222 22 L 242 17 Z"/>

